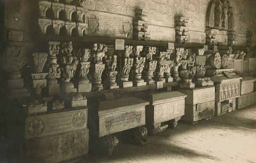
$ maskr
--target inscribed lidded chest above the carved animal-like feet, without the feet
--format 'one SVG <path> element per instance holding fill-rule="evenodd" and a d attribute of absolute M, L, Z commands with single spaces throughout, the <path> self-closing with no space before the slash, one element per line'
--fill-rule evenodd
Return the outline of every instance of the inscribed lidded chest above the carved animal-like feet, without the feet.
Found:
<path fill-rule="evenodd" d="M 101 101 L 99 137 L 145 125 L 145 106 L 148 104 L 135 97 Z"/>

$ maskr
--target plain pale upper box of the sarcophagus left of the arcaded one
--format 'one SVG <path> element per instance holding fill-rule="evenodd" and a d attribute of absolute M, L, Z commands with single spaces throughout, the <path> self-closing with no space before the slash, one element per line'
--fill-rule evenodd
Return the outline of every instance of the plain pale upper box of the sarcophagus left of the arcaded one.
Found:
<path fill-rule="evenodd" d="M 203 102 L 214 101 L 215 87 L 204 87 L 194 89 L 179 89 L 178 91 L 187 95 L 185 100 L 186 105 L 196 105 Z"/>

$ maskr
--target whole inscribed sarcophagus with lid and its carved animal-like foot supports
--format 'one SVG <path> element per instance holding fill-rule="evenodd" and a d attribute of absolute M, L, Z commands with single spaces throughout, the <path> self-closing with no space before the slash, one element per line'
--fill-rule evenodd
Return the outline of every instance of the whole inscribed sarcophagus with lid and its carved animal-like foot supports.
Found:
<path fill-rule="evenodd" d="M 89 121 L 92 128 L 90 150 L 96 150 L 95 152 L 100 152 L 100 155 L 112 155 L 115 146 L 119 143 L 116 138 L 119 132 L 127 133 L 126 138 L 131 138 L 136 144 L 149 142 L 145 138 L 147 128 L 143 127 L 146 124 L 145 107 L 149 105 L 148 101 L 129 97 L 99 99 L 97 103 L 95 107 L 98 106 L 98 109 L 91 110 L 95 115 Z"/>

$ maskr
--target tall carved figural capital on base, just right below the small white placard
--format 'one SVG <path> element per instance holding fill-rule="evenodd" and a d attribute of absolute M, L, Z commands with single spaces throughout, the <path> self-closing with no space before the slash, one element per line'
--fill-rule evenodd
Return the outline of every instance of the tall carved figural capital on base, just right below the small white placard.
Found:
<path fill-rule="evenodd" d="M 133 65 L 133 58 L 130 58 L 132 54 L 132 46 L 125 46 L 122 57 L 119 61 L 118 68 L 118 85 L 121 88 L 132 87 L 132 81 L 129 81 L 129 74 Z"/>

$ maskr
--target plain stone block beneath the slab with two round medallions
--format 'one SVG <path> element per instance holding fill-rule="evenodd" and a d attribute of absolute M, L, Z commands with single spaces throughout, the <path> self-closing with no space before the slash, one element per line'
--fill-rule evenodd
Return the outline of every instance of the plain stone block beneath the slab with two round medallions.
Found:
<path fill-rule="evenodd" d="M 60 162 L 86 155 L 89 129 L 25 141 L 26 162 Z"/>

